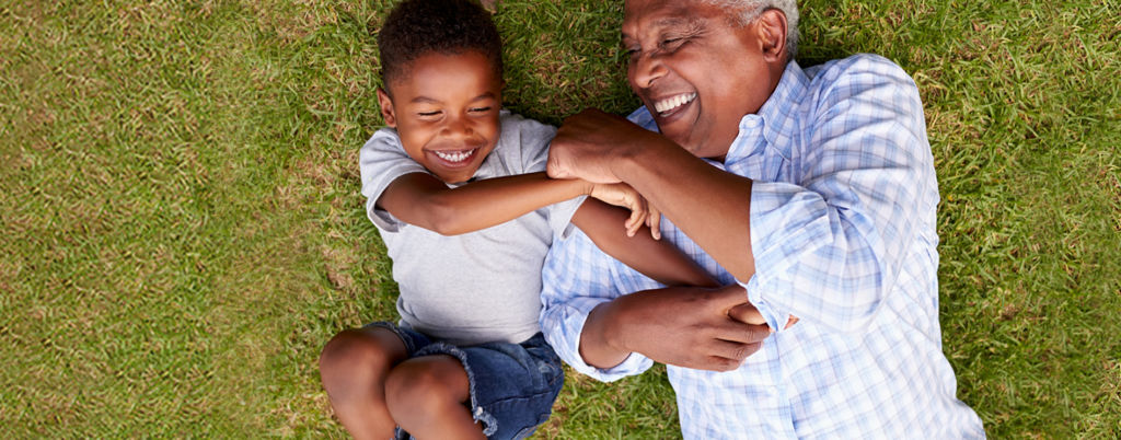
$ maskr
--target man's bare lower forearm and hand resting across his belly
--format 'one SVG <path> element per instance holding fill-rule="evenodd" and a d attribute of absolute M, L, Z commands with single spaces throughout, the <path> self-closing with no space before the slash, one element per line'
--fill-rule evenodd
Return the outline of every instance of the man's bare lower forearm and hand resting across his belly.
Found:
<path fill-rule="evenodd" d="M 661 289 L 628 294 L 592 311 L 581 343 L 585 361 L 637 352 L 670 365 L 725 372 L 759 350 L 770 328 L 743 288 Z M 596 346 L 604 344 L 604 346 Z M 610 364 L 605 362 L 606 364 Z"/>

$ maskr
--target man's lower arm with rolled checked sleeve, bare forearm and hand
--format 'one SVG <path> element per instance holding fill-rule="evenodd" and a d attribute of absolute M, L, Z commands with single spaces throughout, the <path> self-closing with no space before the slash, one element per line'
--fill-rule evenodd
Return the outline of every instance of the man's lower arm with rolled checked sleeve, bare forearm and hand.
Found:
<path fill-rule="evenodd" d="M 581 232 L 554 243 L 541 275 L 541 330 L 566 363 L 601 381 L 638 374 L 651 359 L 728 371 L 770 333 L 744 324 L 762 320 L 750 316 L 742 288 L 658 289 Z"/>

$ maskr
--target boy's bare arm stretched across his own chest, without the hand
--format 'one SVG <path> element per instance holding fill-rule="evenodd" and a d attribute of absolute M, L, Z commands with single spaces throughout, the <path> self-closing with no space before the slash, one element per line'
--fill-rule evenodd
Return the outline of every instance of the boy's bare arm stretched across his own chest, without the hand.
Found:
<path fill-rule="evenodd" d="M 507 176 L 448 188 L 425 172 L 398 177 L 378 206 L 401 222 L 443 235 L 464 234 L 518 218 L 535 209 L 590 194 L 592 184 L 550 179 L 545 172 Z"/>

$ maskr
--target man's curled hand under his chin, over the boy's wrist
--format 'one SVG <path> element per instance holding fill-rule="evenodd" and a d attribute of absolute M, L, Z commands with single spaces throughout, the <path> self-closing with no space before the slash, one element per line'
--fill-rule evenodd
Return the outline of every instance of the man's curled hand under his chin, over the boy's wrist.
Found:
<path fill-rule="evenodd" d="M 564 120 L 549 146 L 549 177 L 581 178 L 596 184 L 620 181 L 611 167 L 632 146 L 642 146 L 656 133 L 595 109 Z"/>

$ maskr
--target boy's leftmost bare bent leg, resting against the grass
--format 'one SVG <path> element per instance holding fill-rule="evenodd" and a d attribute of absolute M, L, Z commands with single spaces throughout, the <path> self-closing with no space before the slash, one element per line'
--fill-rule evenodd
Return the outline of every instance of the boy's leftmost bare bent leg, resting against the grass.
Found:
<path fill-rule="evenodd" d="M 386 406 L 386 377 L 408 356 L 393 330 L 341 331 L 319 355 L 319 376 L 335 415 L 355 439 L 388 439 L 397 423 Z"/>

